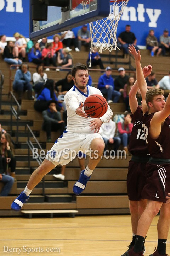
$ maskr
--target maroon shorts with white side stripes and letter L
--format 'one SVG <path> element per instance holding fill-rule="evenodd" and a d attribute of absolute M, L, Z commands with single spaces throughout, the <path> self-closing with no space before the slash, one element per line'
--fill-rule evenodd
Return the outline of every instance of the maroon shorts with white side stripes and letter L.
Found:
<path fill-rule="evenodd" d="M 142 199 L 166 203 L 170 192 L 170 164 L 146 164 L 146 184 L 142 190 Z"/>

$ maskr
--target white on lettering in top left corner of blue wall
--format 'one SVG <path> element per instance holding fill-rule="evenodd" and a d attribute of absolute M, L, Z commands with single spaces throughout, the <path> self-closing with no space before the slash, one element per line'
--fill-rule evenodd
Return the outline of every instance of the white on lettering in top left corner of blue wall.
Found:
<path fill-rule="evenodd" d="M 6 2 L 6 12 L 23 12 L 22 0 L 6 0 Z M 5 0 L 0 0 L 0 11 L 4 9 L 4 7 Z"/>

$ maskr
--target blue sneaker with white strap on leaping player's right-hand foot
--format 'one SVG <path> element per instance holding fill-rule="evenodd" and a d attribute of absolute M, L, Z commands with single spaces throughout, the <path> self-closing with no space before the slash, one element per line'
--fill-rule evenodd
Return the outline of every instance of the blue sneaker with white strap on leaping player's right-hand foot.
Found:
<path fill-rule="evenodd" d="M 84 171 L 85 170 L 81 171 L 79 180 L 77 182 L 75 182 L 75 184 L 73 186 L 73 192 L 76 195 L 81 194 L 83 192 L 83 190 L 85 190 L 86 184 L 90 180 L 91 176 L 87 177 L 84 174 Z"/>

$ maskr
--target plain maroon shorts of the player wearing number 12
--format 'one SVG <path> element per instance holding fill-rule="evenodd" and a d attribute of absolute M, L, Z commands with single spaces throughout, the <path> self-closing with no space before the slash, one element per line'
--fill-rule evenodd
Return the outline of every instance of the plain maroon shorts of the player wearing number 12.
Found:
<path fill-rule="evenodd" d="M 145 186 L 146 162 L 129 161 L 128 175 L 127 175 L 127 189 L 128 198 L 133 201 L 140 201 L 142 199 L 141 193 Z"/>

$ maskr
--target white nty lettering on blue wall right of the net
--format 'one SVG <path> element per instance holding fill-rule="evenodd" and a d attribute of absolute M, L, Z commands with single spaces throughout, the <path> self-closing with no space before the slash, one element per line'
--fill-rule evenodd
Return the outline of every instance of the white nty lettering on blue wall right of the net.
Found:
<path fill-rule="evenodd" d="M 112 9 L 114 6 L 112 6 Z M 119 11 L 119 10 L 118 10 Z M 148 27 L 157 27 L 157 20 L 162 14 L 160 9 L 150 9 L 146 8 L 144 4 L 138 4 L 137 9 L 135 7 L 126 6 L 123 14 L 121 15 L 122 21 L 140 21 L 145 22 L 145 15 L 148 15 L 150 22 L 148 23 Z M 113 16 L 114 17 L 114 16 Z M 112 17 L 111 17 L 112 18 Z"/>

